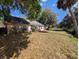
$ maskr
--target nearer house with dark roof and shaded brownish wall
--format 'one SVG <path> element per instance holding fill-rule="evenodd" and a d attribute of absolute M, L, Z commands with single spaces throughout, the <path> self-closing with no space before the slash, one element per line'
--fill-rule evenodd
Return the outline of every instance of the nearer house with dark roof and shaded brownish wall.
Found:
<path fill-rule="evenodd" d="M 19 17 L 9 16 L 4 19 L 4 25 L 7 26 L 8 34 L 11 32 L 25 32 L 30 23 Z"/>

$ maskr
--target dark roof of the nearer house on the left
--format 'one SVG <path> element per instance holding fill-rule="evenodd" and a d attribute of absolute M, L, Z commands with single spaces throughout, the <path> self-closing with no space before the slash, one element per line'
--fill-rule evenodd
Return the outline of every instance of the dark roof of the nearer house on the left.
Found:
<path fill-rule="evenodd" d="M 25 20 L 23 18 L 19 18 L 19 17 L 14 17 L 14 16 L 6 17 L 5 20 L 7 22 L 17 22 L 17 23 L 21 23 L 21 24 L 30 24 L 27 20 Z"/>

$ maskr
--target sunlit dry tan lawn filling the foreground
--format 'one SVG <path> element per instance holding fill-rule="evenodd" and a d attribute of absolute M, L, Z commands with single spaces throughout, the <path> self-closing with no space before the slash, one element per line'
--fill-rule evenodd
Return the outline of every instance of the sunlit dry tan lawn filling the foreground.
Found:
<path fill-rule="evenodd" d="M 64 31 L 33 32 L 28 40 L 15 59 L 77 59 L 77 39 Z"/>

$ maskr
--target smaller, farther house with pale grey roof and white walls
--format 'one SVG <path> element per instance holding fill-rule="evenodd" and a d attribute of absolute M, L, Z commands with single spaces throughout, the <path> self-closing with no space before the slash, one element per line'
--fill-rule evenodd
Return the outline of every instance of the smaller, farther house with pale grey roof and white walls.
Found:
<path fill-rule="evenodd" d="M 34 26 L 37 31 L 45 31 L 45 26 L 38 21 L 31 21 L 30 24 Z"/>

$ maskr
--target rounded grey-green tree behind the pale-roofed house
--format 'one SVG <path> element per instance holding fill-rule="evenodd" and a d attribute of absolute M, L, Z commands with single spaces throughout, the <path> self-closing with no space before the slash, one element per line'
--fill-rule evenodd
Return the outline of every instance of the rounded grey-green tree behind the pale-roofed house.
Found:
<path fill-rule="evenodd" d="M 56 20 L 56 14 L 50 9 L 46 9 L 42 12 L 38 21 L 46 26 L 55 26 Z"/>

